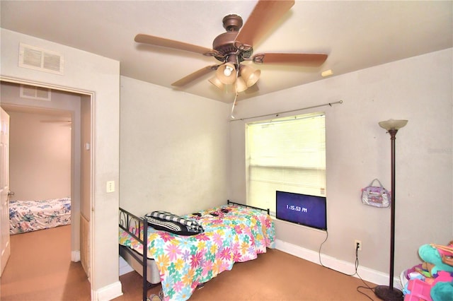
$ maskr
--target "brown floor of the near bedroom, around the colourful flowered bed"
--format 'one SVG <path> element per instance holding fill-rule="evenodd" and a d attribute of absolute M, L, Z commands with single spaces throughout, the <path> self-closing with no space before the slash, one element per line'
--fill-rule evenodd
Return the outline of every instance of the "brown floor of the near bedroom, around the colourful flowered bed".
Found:
<path fill-rule="evenodd" d="M 125 295 L 119 300 L 140 300 L 142 278 L 135 272 L 120 277 Z M 258 259 L 236 263 L 231 271 L 224 271 L 216 278 L 195 290 L 190 301 L 202 300 L 319 300 L 352 301 L 379 300 L 371 290 L 357 292 L 365 286 L 358 278 L 324 268 L 299 259 L 277 249 L 268 249 Z M 374 287 L 372 283 L 367 285 Z M 160 286 L 148 290 L 158 294 Z"/>

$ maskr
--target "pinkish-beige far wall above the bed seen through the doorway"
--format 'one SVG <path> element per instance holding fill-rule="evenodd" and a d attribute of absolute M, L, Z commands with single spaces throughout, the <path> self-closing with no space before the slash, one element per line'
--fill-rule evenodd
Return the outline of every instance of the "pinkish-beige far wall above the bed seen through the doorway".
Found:
<path fill-rule="evenodd" d="M 8 111 L 7 111 L 8 112 Z M 71 196 L 71 126 L 47 114 L 8 112 L 10 190 L 17 200 Z"/>

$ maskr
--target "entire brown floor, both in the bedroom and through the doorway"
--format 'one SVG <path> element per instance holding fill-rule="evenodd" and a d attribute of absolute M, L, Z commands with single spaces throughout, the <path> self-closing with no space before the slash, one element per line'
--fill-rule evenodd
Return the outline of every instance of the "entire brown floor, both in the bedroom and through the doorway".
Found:
<path fill-rule="evenodd" d="M 90 283 L 79 262 L 71 262 L 71 226 L 11 236 L 11 257 L 1 276 L 2 301 L 91 299 Z M 142 300 L 142 278 L 120 276 L 123 295 L 115 301 Z M 190 301 L 210 300 L 378 300 L 358 278 L 268 249 L 258 259 L 237 263 L 231 271 L 195 290 Z M 372 285 L 368 283 L 368 285 Z M 148 295 L 158 294 L 160 285 Z"/>

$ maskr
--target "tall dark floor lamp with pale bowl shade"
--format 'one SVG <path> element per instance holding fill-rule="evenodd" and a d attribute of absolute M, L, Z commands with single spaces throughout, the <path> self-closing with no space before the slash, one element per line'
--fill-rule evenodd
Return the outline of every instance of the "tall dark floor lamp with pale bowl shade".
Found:
<path fill-rule="evenodd" d="M 407 120 L 389 119 L 386 122 L 379 122 L 379 126 L 386 129 L 390 134 L 391 140 L 391 230 L 390 230 L 390 279 L 389 286 L 378 285 L 374 289 L 374 295 L 382 300 L 403 301 L 401 290 L 394 288 L 394 255 L 395 255 L 395 140 L 398 129 L 408 123 Z"/>

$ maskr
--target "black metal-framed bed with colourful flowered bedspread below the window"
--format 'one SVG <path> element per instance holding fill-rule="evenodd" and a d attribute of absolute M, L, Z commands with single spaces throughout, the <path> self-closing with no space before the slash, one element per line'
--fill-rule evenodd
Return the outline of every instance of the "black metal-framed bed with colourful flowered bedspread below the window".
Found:
<path fill-rule="evenodd" d="M 131 266 L 143 276 L 144 300 L 150 283 L 161 283 L 164 300 L 188 300 L 195 288 L 231 270 L 235 262 L 256 259 L 275 247 L 273 220 L 259 208 L 229 202 L 180 216 L 178 222 L 195 228 L 193 234 L 183 229 L 184 235 L 176 234 L 180 229 L 156 230 L 154 217 L 139 218 L 120 208 L 120 254 L 132 259 Z M 196 232 L 198 226 L 202 230 Z"/>

